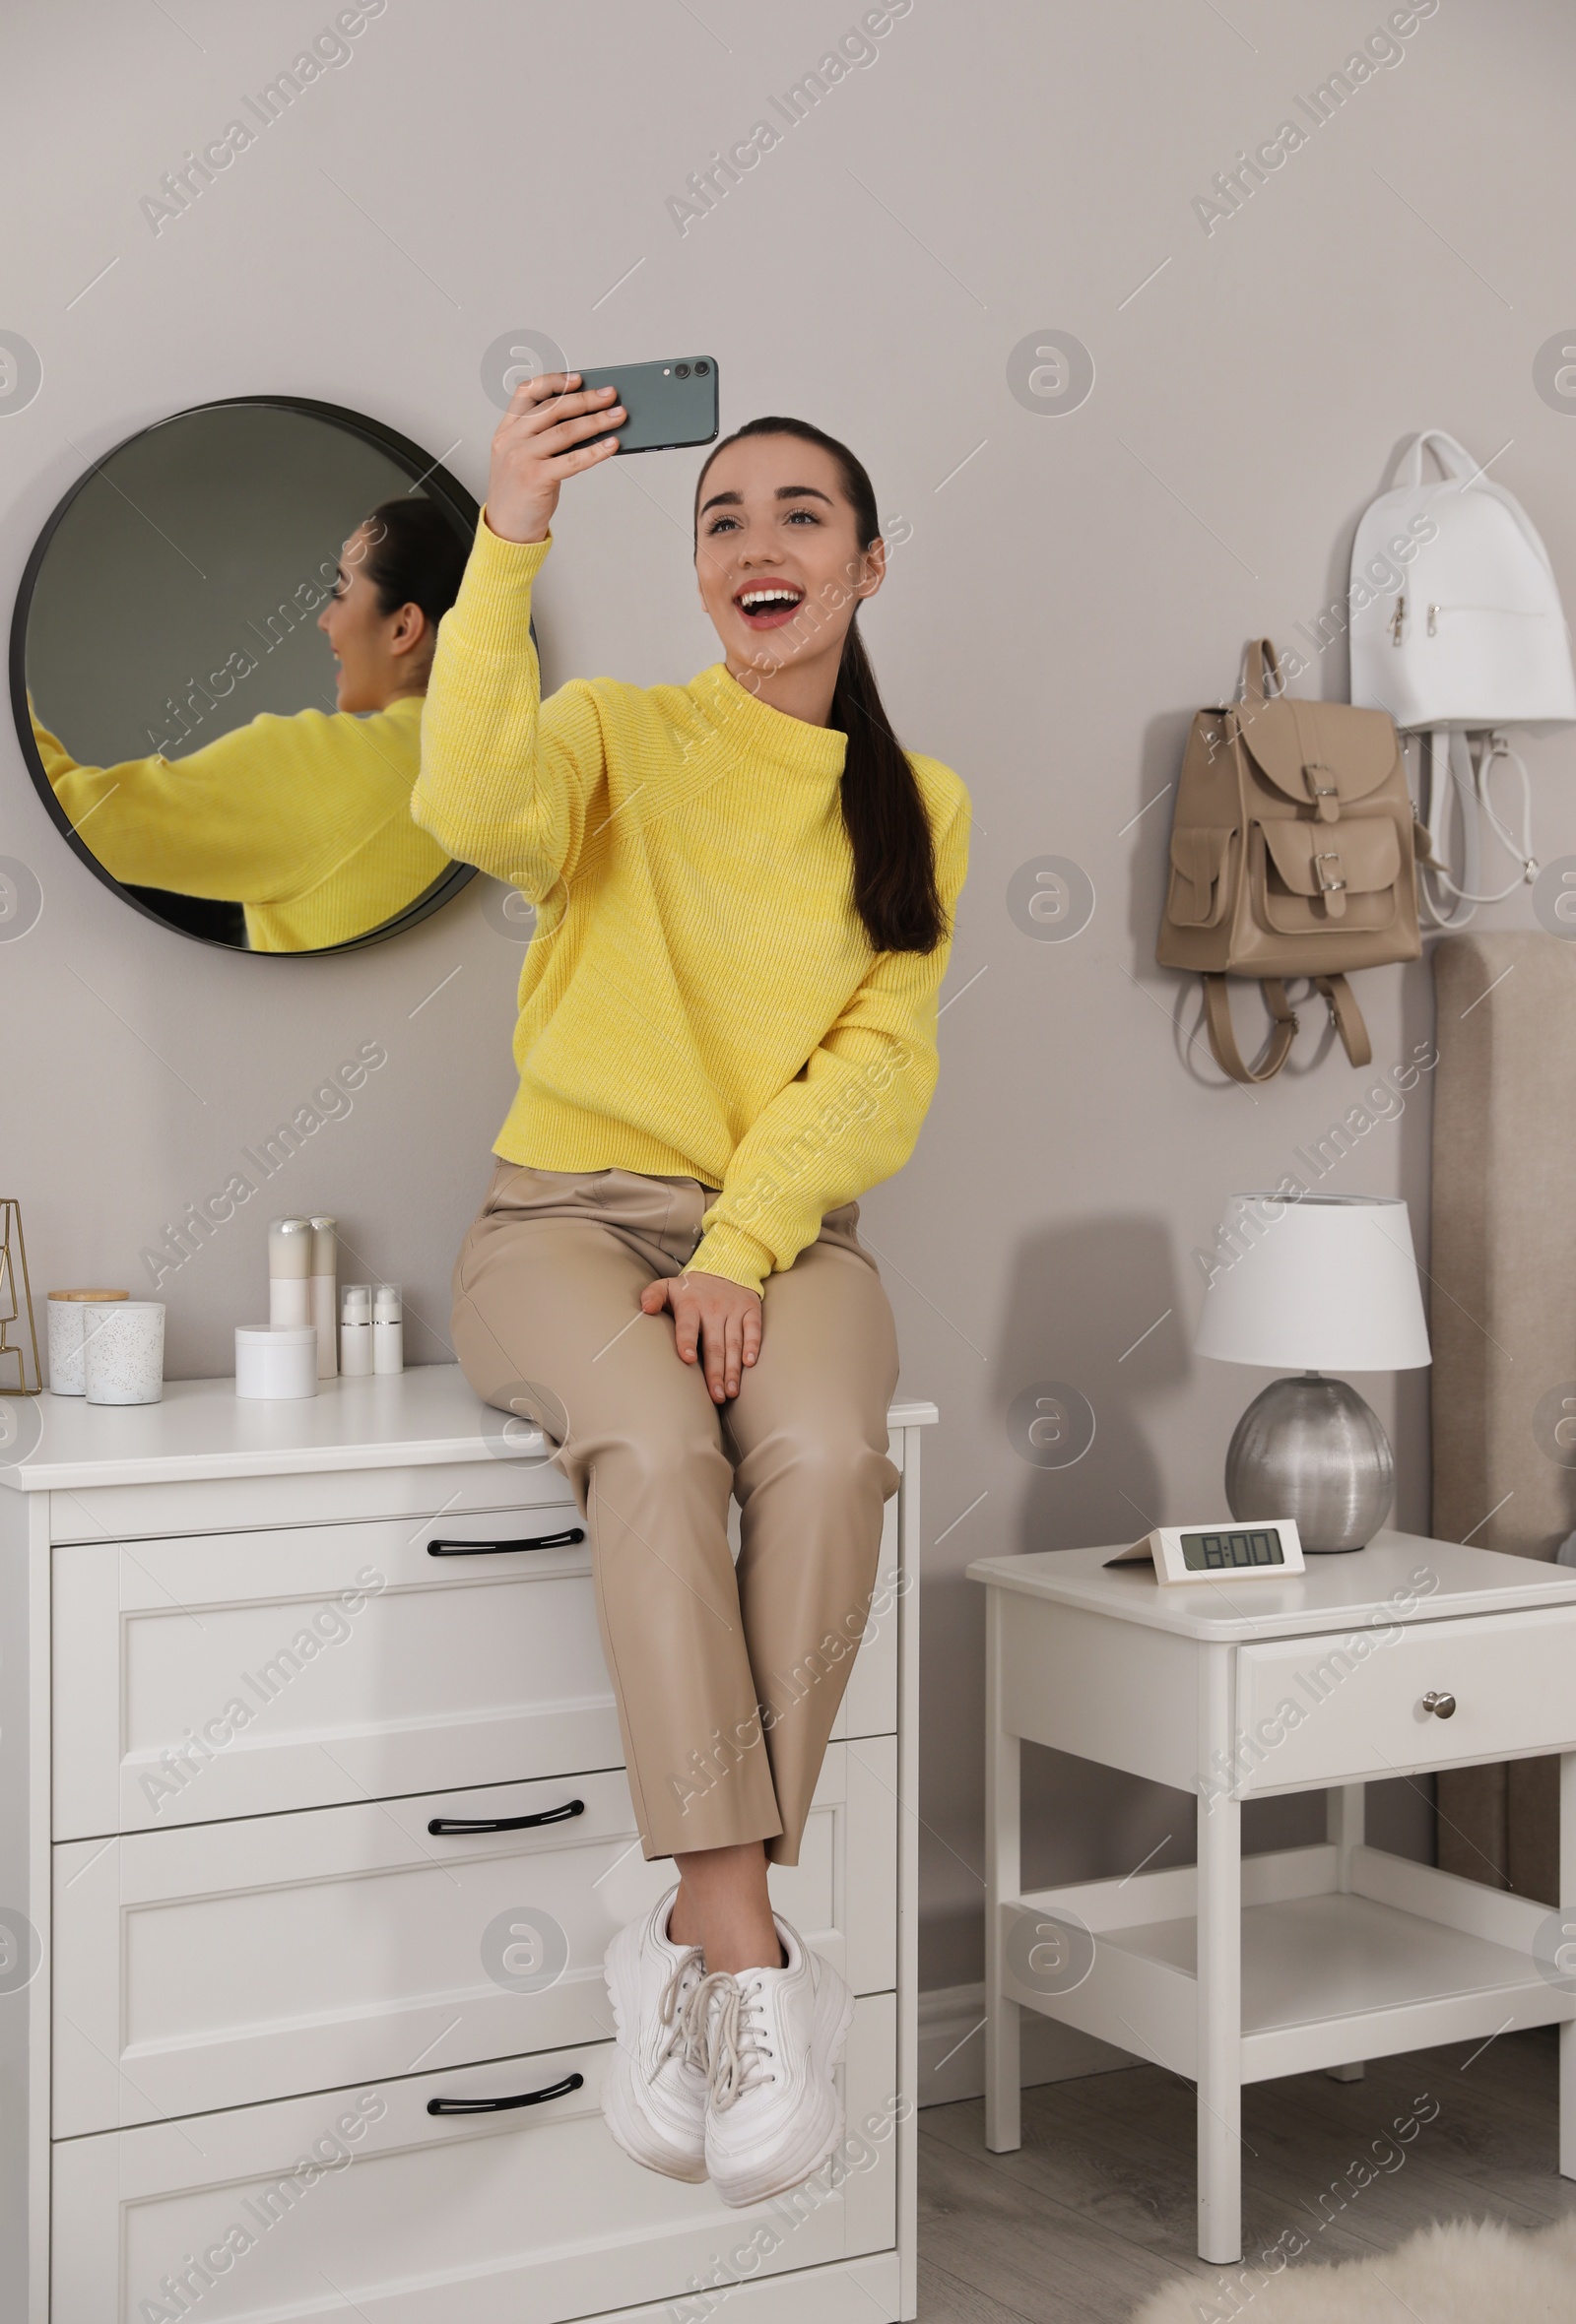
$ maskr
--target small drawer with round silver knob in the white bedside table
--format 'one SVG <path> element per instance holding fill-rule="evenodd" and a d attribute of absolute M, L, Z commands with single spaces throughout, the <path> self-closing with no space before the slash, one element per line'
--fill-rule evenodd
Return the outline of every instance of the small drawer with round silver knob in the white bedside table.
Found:
<path fill-rule="evenodd" d="M 1576 1606 L 1244 1645 L 1237 1734 L 1244 1794 L 1571 1750 Z"/>

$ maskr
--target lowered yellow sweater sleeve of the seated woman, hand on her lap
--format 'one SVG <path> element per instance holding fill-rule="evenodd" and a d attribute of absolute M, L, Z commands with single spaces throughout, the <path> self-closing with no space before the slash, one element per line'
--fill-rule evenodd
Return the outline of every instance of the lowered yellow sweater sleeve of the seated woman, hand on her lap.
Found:
<path fill-rule="evenodd" d="M 758 1292 L 793 1267 L 821 1220 L 869 1192 L 914 1153 L 937 1085 L 937 995 L 951 957 L 953 906 L 969 862 L 962 783 L 937 832 L 946 934 L 932 953 L 879 953 L 837 1023 L 735 1146 L 723 1190 L 702 1218 L 690 1269 Z"/>

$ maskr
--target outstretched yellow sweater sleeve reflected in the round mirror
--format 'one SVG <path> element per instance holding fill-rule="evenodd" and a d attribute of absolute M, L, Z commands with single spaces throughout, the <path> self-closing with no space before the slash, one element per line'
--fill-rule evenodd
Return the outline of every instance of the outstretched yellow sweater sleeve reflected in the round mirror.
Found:
<path fill-rule="evenodd" d="M 230 904 L 300 895 L 365 837 L 367 737 L 342 711 L 265 711 L 186 758 L 81 767 L 33 718 L 63 813 L 112 878 Z"/>

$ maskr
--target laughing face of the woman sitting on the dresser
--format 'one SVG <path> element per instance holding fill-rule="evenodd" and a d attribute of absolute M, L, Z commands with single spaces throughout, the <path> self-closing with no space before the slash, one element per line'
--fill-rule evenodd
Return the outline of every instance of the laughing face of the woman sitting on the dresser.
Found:
<path fill-rule="evenodd" d="M 837 667 L 848 623 L 883 572 L 881 541 L 860 548 L 839 465 L 821 444 L 744 437 L 707 469 L 695 576 L 730 669 L 823 658 Z"/>

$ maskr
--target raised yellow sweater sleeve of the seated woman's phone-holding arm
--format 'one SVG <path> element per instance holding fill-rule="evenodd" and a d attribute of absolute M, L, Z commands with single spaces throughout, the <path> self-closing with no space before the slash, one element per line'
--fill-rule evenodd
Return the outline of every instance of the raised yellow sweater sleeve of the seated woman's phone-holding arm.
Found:
<path fill-rule="evenodd" d="M 607 790 L 590 688 L 565 686 L 542 702 L 530 586 L 551 544 L 551 532 L 504 541 L 481 514 L 460 595 L 437 632 L 411 792 L 411 816 L 449 855 L 532 904 L 574 876 L 593 802 Z"/>

